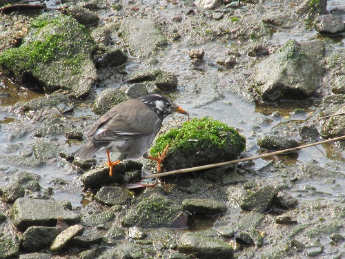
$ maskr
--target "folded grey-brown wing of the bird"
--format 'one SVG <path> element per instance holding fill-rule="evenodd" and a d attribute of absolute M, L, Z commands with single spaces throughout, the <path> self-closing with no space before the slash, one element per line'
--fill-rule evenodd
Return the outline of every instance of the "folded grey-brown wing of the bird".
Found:
<path fill-rule="evenodd" d="M 87 137 L 92 142 L 129 140 L 161 127 L 158 115 L 137 99 L 118 104 L 101 116 Z"/>

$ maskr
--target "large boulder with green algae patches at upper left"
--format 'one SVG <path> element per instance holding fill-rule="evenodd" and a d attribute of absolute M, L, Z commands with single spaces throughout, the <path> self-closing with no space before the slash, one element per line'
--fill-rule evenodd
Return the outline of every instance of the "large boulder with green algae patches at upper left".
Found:
<path fill-rule="evenodd" d="M 30 24 L 19 48 L 0 54 L 0 66 L 24 86 L 33 83 L 47 93 L 62 88 L 82 98 L 97 79 L 94 50 L 95 41 L 75 19 L 46 13 Z"/>

